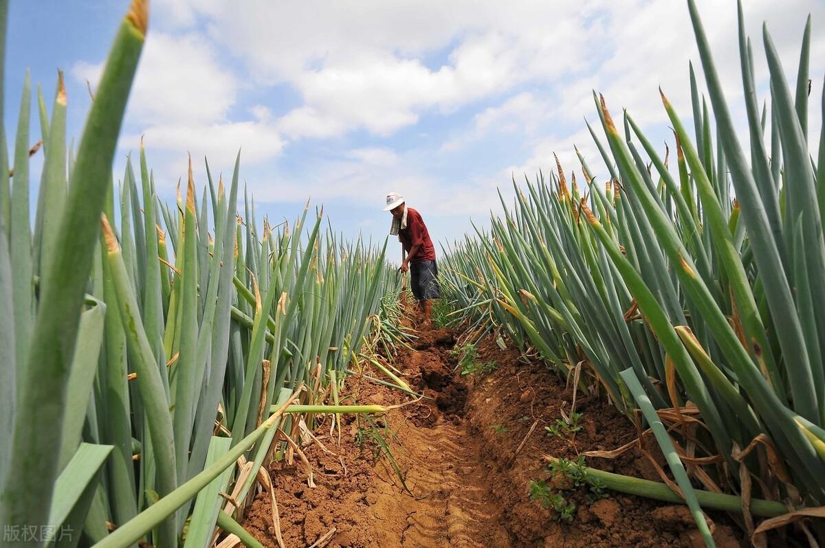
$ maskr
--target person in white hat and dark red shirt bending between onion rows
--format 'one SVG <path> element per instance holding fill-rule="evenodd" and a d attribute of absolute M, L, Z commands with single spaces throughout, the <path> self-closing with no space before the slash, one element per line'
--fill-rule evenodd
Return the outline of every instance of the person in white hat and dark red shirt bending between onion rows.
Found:
<path fill-rule="evenodd" d="M 393 224 L 389 233 L 398 235 L 401 241 L 401 272 L 410 271 L 411 286 L 418 307 L 423 312 L 423 326 L 431 326 L 431 299 L 441 297 L 438 287 L 438 265 L 436 248 L 432 246 L 430 233 L 421 218 L 421 213 L 404 203 L 403 196 L 395 192 L 387 194 L 384 211 L 393 214 Z"/>

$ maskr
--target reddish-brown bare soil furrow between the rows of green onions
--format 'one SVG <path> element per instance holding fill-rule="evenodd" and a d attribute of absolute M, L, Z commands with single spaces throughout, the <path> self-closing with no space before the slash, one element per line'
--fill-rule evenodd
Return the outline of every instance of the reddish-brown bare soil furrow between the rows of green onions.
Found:
<path fill-rule="evenodd" d="M 579 394 L 582 430 L 569 441 L 545 435 L 544 426 L 554 424 L 559 410 L 570 410 L 573 394 L 563 380 L 544 365 L 522 361 L 515 349 L 502 351 L 492 340 L 479 344 L 477 361 L 495 361 L 497 369 L 461 376 L 450 355 L 454 336 L 450 330 L 418 333 L 415 349 L 400 353 L 395 363 L 425 397 L 376 419 L 394 432 L 389 447 L 412 495 L 387 457 L 374 461 L 374 443 L 356 444 L 363 419 L 342 417 L 340 443 L 339 433 L 330 436 L 326 422 L 315 435 L 329 452 L 318 443 L 304 447 L 316 487 L 307 485 L 306 466 L 297 457 L 292 466 L 275 463 L 270 468 L 287 548 L 311 546 L 325 534 L 330 540 L 318 546 L 704 546 L 682 506 L 615 493 L 588 505 L 585 491 L 574 489 L 564 491 L 577 504 L 568 523 L 554 520 L 549 510 L 530 500 L 530 480 L 548 478 L 545 455 L 575 458 L 578 452 L 615 449 L 632 441 L 636 432 L 605 401 Z M 409 400 L 358 377 L 347 380 L 347 391 L 360 403 Z M 650 448 L 651 454 L 660 454 L 657 447 Z M 635 451 L 615 460 L 588 459 L 587 464 L 658 480 Z M 565 487 L 557 485 L 559 478 L 549 480 Z M 257 494 L 243 526 L 264 546 L 278 546 L 271 516 L 268 494 Z M 711 513 L 710 518 L 717 546 L 745 546 L 738 527 L 724 514 Z"/>

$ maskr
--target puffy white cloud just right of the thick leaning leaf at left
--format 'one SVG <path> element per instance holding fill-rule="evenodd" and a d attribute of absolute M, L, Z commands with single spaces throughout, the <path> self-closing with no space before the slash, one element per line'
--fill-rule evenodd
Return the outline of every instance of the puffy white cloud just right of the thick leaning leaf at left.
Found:
<path fill-rule="evenodd" d="M 179 12 L 186 21 L 187 12 Z M 97 82 L 101 72 L 102 63 L 80 62 L 73 68 L 78 80 L 90 82 Z M 130 133 L 121 137 L 120 146 L 134 150 L 143 135 L 148 148 L 167 152 L 167 171 L 177 174 L 186 172 L 186 152 L 226 166 L 233 165 L 238 149 L 247 163 L 280 155 L 286 143 L 268 107 L 253 106 L 254 120 L 229 119 L 239 88 L 238 79 L 219 62 L 214 44 L 204 35 L 150 32 L 130 96 Z M 168 180 L 177 177 L 167 175 Z"/>

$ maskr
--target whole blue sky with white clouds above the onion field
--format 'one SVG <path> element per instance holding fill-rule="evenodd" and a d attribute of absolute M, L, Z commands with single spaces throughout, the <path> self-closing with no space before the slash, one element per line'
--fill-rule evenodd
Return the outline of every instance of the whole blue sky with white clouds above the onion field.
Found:
<path fill-rule="evenodd" d="M 53 97 L 66 75 L 69 134 L 79 138 L 94 88 L 128 2 L 11 2 L 6 64 L 7 134 L 26 68 Z M 699 0 L 734 115 L 742 119 L 736 8 Z M 812 107 L 825 71 L 825 7 L 816 0 L 744 2 L 765 91 L 761 21 L 768 20 L 791 85 L 813 13 Z M 591 91 L 614 115 L 626 107 L 653 142 L 671 141 L 658 86 L 689 117 L 687 63 L 697 59 L 684 2 L 222 2 L 156 0 L 120 139 L 115 179 L 144 135 L 159 194 L 186 176 L 241 176 L 272 222 L 295 218 L 307 198 L 347 237 L 383 241 L 384 194 L 399 191 L 433 237 L 451 241 L 498 210 L 510 178 L 577 170 L 573 144 L 605 170 L 583 119 Z M 700 75 L 701 79 L 701 75 Z M 811 127 L 821 113 L 812 108 Z M 33 111 L 33 128 L 39 127 Z M 36 134 L 36 131 L 33 131 Z M 36 140 L 36 138 L 35 138 Z M 818 135 L 812 135 L 816 146 Z M 32 169 L 39 177 L 38 158 Z M 603 177 L 602 177 L 603 180 Z M 260 219 L 257 219 L 260 222 Z"/>

